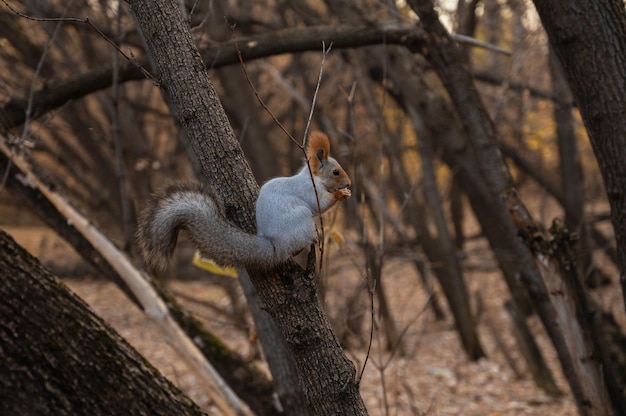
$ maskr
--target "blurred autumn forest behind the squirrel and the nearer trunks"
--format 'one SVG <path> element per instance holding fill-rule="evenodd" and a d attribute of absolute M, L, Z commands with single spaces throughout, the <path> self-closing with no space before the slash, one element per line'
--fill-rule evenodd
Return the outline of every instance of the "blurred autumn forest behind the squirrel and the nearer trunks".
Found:
<path fill-rule="evenodd" d="M 488 238 L 497 233 L 488 228 L 501 225 L 489 221 L 490 202 L 462 169 L 464 121 L 428 59 L 391 36 L 363 47 L 326 44 L 324 57 L 321 42 L 295 42 L 313 30 L 404 30 L 417 19 L 411 7 L 332 0 L 180 5 L 260 184 L 295 172 L 302 153 L 252 86 L 301 138 L 324 61 L 312 125 L 331 137 L 353 196 L 325 220 L 319 298 L 357 369 L 369 357 L 362 392 L 370 413 L 575 414 L 562 363 L 532 313 L 509 243 L 494 246 L 497 238 Z M 624 304 L 606 191 L 533 4 L 439 1 L 436 10 L 462 46 L 463 65 L 497 131 L 519 190 L 513 198 L 533 218 L 522 237 L 544 238 L 555 218 L 575 233 L 579 276 L 616 331 L 611 345 L 619 352 Z M 159 88 L 136 65 L 150 68 L 127 5 L 7 1 L 0 22 L 2 142 L 140 265 L 137 212 L 164 184 L 196 177 Z M 290 39 L 281 32 L 287 28 L 302 31 Z M 244 54 L 247 77 L 236 57 L 220 54 L 233 36 L 253 49 L 249 39 L 263 34 L 259 56 Z M 290 40 L 293 49 L 283 46 Z M 150 324 L 124 294 L 71 242 L 60 242 L 45 214 L 1 173 L 0 227 L 217 414 L 189 370 L 175 364 L 175 352 L 160 345 L 158 331 L 146 335 Z M 176 263 L 157 280 L 229 348 L 263 367 L 237 280 L 194 267 L 192 256 L 183 239 Z M 615 354 L 623 380 L 623 357 Z"/>

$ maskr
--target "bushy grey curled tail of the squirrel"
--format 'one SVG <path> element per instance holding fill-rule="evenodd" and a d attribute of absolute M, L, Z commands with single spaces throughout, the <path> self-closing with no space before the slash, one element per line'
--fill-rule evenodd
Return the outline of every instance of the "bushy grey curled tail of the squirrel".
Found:
<path fill-rule="evenodd" d="M 267 267 L 280 259 L 266 238 L 230 224 L 221 200 L 199 184 L 175 184 L 156 194 L 139 217 L 139 246 L 146 262 L 163 268 L 174 252 L 181 229 L 203 256 L 222 266 Z"/>

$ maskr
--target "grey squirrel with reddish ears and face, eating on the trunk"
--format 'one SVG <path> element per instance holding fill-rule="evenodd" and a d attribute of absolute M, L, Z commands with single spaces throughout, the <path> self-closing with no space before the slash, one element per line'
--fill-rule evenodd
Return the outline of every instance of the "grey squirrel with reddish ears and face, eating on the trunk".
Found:
<path fill-rule="evenodd" d="M 256 201 L 257 234 L 232 225 L 215 191 L 200 184 L 173 184 L 150 199 L 139 216 L 139 247 L 146 262 L 163 268 L 184 229 L 200 252 L 221 266 L 267 269 L 317 241 L 314 216 L 350 197 L 350 178 L 330 157 L 330 140 L 312 132 L 307 163 L 294 176 L 266 182 Z M 315 189 L 313 188 L 315 182 Z M 316 193 L 317 191 L 317 193 Z"/>

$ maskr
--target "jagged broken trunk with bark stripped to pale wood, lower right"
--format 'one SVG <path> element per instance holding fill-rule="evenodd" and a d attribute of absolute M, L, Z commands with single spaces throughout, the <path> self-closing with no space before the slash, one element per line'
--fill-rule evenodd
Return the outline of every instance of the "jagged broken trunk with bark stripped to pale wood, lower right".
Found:
<path fill-rule="evenodd" d="M 567 340 L 569 365 L 563 372 L 570 384 L 581 415 L 624 414 L 624 394 L 609 358 L 599 306 L 589 298 L 582 284 L 574 256 L 575 239 L 561 220 L 554 220 L 551 236 L 536 223 L 517 192 L 503 197 L 519 235 L 537 264 L 552 305 L 554 319 Z"/>

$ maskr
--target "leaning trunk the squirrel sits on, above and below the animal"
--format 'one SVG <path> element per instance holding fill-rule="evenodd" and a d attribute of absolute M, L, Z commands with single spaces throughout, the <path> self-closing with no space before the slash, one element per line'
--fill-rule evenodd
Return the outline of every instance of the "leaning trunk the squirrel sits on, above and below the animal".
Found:
<path fill-rule="evenodd" d="M 136 0 L 130 5 L 196 171 L 222 197 L 227 217 L 253 232 L 258 185 L 178 4 Z M 319 415 L 366 414 L 354 365 L 343 354 L 317 302 L 313 279 L 293 265 L 275 273 L 249 272 L 265 310 L 274 318 L 293 355 L 310 411 Z"/>

